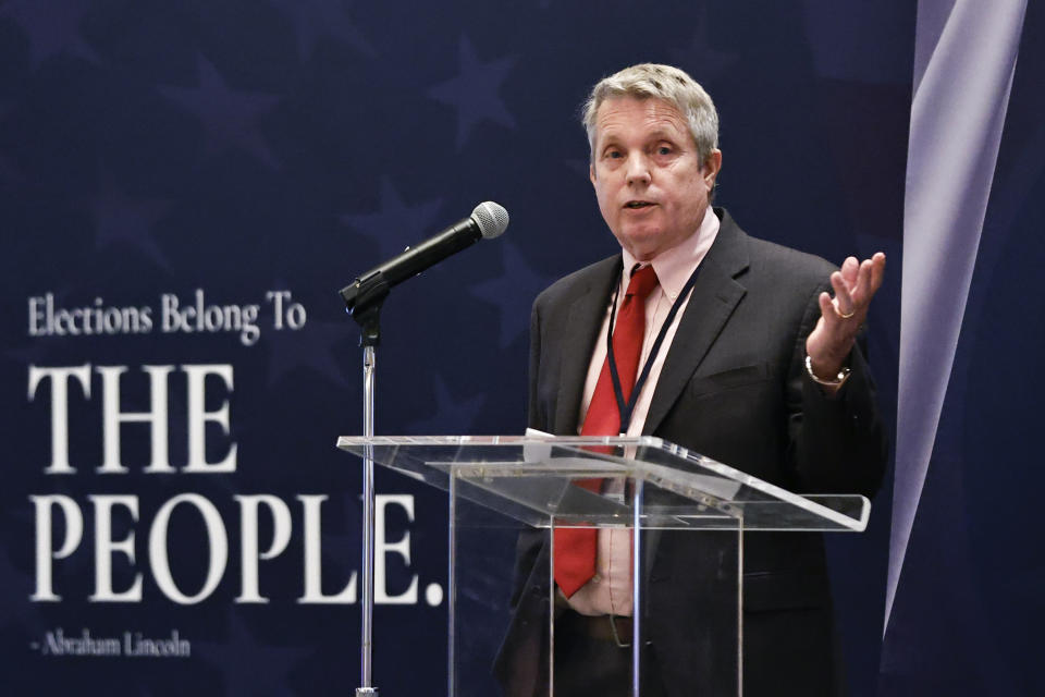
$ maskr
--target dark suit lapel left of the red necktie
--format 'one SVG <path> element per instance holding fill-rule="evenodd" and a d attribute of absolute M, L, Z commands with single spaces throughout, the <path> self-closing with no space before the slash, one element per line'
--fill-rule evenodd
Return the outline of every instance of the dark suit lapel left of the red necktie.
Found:
<path fill-rule="evenodd" d="M 564 337 L 573 337 L 563 346 L 558 398 L 555 400 L 555 433 L 576 436 L 580 399 L 585 391 L 591 352 L 599 340 L 606 303 L 620 276 L 620 255 L 600 262 L 592 269 L 587 288 L 570 305 Z"/>

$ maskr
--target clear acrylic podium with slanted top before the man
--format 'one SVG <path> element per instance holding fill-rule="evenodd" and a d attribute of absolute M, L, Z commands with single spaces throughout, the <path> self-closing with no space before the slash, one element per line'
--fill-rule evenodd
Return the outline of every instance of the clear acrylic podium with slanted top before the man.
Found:
<path fill-rule="evenodd" d="M 741 534 L 862 531 L 871 509 L 861 496 L 798 496 L 652 437 L 342 437 L 337 445 L 448 492 L 451 697 L 554 695 L 578 670 L 566 664 L 564 640 L 555 645 L 566 600 L 553 582 L 550 530 L 565 527 L 608 528 L 631 545 L 631 617 L 586 624 L 628 652 L 631 695 L 641 695 L 651 660 L 642 647 L 656 632 L 646 617 L 665 613 L 656 547 L 665 535 L 696 536 L 714 562 L 685 573 L 708 611 L 674 617 L 674 644 L 713 667 L 694 694 L 740 695 Z"/>

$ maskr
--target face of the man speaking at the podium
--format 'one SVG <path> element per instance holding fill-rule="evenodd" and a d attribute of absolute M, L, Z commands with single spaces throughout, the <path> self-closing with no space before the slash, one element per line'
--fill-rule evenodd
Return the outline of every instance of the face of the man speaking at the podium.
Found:
<path fill-rule="evenodd" d="M 616 97 L 595 113 L 591 183 L 620 246 L 649 261 L 700 227 L 722 154 L 708 162 L 686 119 L 660 99 Z"/>

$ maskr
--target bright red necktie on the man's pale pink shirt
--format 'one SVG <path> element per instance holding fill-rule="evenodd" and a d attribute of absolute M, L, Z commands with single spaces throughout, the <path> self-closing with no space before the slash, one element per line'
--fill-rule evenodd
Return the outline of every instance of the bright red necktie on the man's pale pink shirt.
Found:
<path fill-rule="evenodd" d="M 614 322 L 613 354 L 625 402 L 631 398 L 639 369 L 639 354 L 646 333 L 646 298 L 656 285 L 656 273 L 652 266 L 635 271 Z M 599 374 L 599 382 L 595 383 L 595 392 L 588 405 L 580 435 L 617 436 L 619 432 L 620 412 L 613 392 L 607 355 L 606 362 L 602 364 L 602 372 Z M 598 491 L 602 479 L 578 479 L 574 484 L 590 491 Z M 567 598 L 595 575 L 597 542 L 595 528 L 555 528 L 555 583 Z"/>

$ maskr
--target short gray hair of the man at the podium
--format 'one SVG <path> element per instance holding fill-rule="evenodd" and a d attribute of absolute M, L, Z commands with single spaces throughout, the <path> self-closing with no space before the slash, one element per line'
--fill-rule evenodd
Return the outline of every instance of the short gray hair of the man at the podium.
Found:
<path fill-rule="evenodd" d="M 634 97 L 660 99 L 675 107 L 686 118 L 703 164 L 718 147 L 718 112 L 704 88 L 684 71 L 671 65 L 640 63 L 603 77 L 592 87 L 583 106 L 581 122 L 588 131 L 592 159 L 595 149 L 595 115 L 606 99 Z"/>

